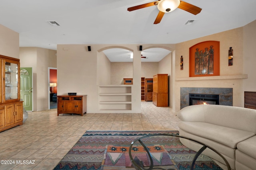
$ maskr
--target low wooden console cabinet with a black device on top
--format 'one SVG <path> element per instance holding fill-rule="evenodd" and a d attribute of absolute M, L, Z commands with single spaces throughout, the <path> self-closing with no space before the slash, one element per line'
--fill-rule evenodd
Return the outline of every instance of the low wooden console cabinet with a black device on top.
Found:
<path fill-rule="evenodd" d="M 57 100 L 57 115 L 61 113 L 84 115 L 86 113 L 87 95 L 61 95 L 57 96 Z"/>

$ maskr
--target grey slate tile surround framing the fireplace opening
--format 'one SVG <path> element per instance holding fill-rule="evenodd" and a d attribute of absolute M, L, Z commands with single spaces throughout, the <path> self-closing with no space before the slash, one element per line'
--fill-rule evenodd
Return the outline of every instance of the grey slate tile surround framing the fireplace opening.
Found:
<path fill-rule="evenodd" d="M 233 106 L 233 88 L 180 88 L 180 109 L 189 106 L 189 94 L 218 94 L 220 105 Z"/>

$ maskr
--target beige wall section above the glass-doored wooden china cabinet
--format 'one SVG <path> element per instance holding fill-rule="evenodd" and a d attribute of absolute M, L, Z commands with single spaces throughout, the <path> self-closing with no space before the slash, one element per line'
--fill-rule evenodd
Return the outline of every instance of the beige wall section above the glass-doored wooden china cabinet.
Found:
<path fill-rule="evenodd" d="M 0 24 L 0 55 L 19 59 L 19 33 Z"/>

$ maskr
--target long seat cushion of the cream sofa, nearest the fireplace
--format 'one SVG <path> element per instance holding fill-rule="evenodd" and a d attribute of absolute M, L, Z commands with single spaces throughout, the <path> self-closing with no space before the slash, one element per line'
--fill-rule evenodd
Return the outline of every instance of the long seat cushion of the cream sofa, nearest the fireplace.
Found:
<path fill-rule="evenodd" d="M 179 128 L 188 133 L 216 141 L 231 148 L 236 148 L 239 142 L 255 135 L 252 132 L 204 122 L 180 121 Z"/>

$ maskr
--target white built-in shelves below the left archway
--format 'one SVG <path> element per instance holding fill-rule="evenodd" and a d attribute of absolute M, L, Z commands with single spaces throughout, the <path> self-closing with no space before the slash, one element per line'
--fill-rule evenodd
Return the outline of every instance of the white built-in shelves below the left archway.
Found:
<path fill-rule="evenodd" d="M 100 85 L 99 110 L 132 110 L 132 85 Z"/>

